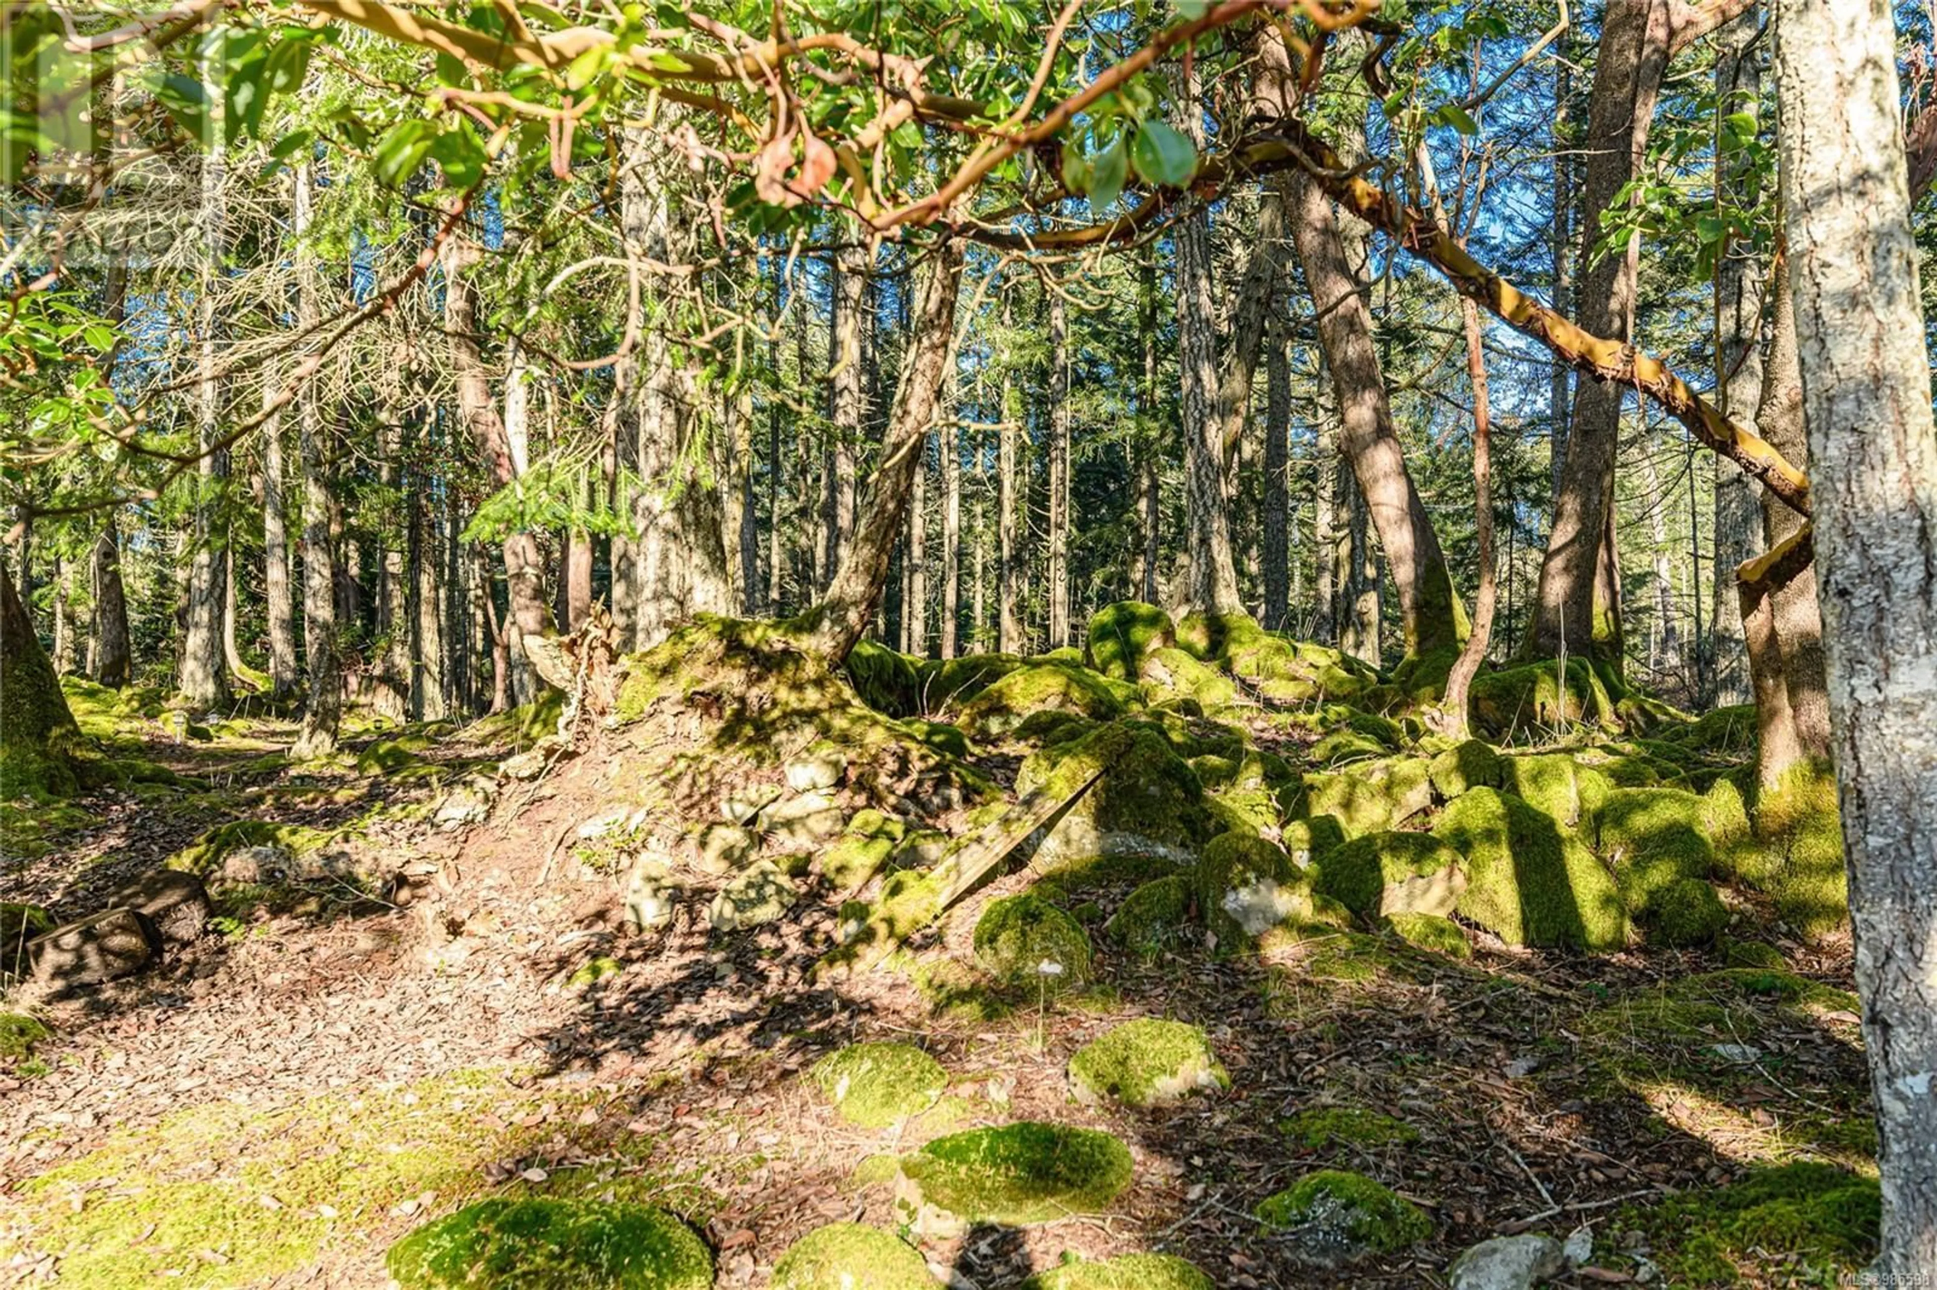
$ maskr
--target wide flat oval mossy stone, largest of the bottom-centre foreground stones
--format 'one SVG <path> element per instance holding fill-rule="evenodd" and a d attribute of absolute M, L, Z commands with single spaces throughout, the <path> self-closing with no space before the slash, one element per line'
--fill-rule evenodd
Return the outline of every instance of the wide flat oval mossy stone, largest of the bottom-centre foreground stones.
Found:
<path fill-rule="evenodd" d="M 901 1160 L 901 1207 L 1027 1226 L 1106 1213 L 1129 1185 L 1129 1147 L 1096 1129 L 1017 1121 L 938 1137 Z"/>

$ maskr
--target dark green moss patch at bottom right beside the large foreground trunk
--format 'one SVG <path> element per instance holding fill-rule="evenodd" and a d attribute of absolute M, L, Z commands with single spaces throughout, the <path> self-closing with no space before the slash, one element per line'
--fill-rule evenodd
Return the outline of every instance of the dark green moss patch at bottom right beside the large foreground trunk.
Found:
<path fill-rule="evenodd" d="M 1670 1284 L 1761 1284 L 1772 1259 L 1786 1284 L 1842 1284 L 1877 1255 L 1881 1213 L 1873 1178 L 1798 1162 L 1625 1211 L 1617 1224 L 1648 1238 Z"/>

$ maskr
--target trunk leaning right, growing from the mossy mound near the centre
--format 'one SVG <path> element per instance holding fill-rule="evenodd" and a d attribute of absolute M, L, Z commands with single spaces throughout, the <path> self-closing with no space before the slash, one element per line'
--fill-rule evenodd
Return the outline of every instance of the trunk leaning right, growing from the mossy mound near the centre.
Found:
<path fill-rule="evenodd" d="M 949 240 L 934 250 L 918 273 L 920 294 L 893 415 L 881 442 L 881 465 L 868 484 L 848 554 L 835 571 L 825 600 L 810 610 L 802 624 L 808 628 L 812 649 L 829 660 L 846 659 L 854 641 L 868 630 L 887 587 L 889 556 L 947 384 L 961 269 L 961 242 Z"/>

